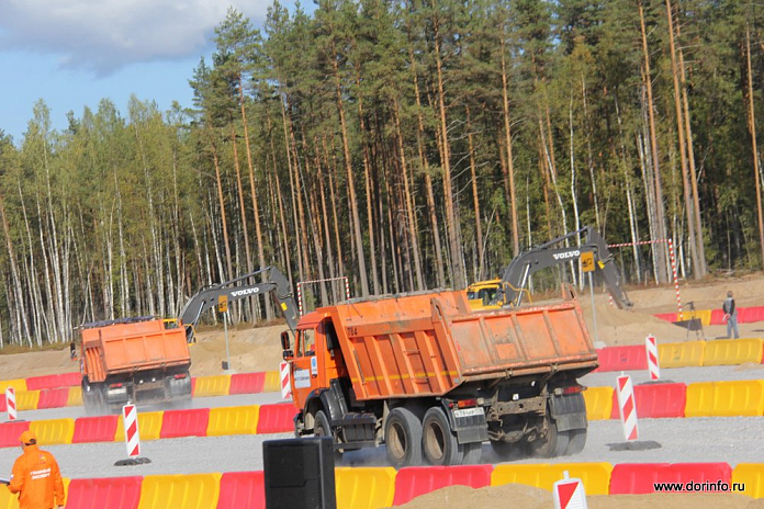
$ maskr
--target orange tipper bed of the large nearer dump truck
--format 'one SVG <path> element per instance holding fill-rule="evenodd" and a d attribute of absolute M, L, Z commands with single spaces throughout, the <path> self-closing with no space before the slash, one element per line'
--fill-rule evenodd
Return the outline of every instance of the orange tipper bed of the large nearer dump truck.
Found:
<path fill-rule="evenodd" d="M 440 292 L 330 309 L 359 400 L 442 396 L 469 382 L 597 366 L 575 299 L 472 312 L 464 292 Z"/>

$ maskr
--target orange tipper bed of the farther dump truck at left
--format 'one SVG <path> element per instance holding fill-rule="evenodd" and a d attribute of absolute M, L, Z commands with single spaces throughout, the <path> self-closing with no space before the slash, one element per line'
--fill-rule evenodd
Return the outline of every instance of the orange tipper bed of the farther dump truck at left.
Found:
<path fill-rule="evenodd" d="M 82 351 L 90 382 L 102 382 L 117 373 L 191 362 L 186 331 L 165 329 L 162 320 L 82 329 Z"/>

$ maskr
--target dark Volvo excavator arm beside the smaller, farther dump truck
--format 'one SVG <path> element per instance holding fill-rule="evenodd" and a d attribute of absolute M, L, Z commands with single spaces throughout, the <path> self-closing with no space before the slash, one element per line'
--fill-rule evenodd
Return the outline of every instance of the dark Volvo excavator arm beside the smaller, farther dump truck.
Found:
<path fill-rule="evenodd" d="M 255 284 L 243 283 L 252 276 L 263 273 L 267 274 L 266 282 Z M 235 280 L 207 286 L 191 297 L 180 313 L 180 323 L 186 327 L 187 339 L 189 341 L 192 339 L 189 336 L 193 335 L 193 327 L 196 325 L 196 321 L 199 321 L 202 313 L 216 306 L 221 296 L 226 296 L 229 302 L 233 302 L 260 293 L 271 294 L 277 307 L 284 315 L 284 318 L 286 318 L 286 325 L 289 325 L 289 328 L 294 333 L 297 328 L 297 306 L 294 303 L 289 280 L 276 267 L 267 267 L 236 278 Z"/>

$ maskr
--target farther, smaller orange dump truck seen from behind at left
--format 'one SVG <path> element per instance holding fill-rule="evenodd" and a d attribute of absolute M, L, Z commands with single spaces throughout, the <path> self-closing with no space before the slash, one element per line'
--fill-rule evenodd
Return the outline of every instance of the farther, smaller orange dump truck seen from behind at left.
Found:
<path fill-rule="evenodd" d="M 186 405 L 191 354 L 183 328 L 154 317 L 81 328 L 82 403 L 88 414 L 117 412 L 127 401 Z"/>

